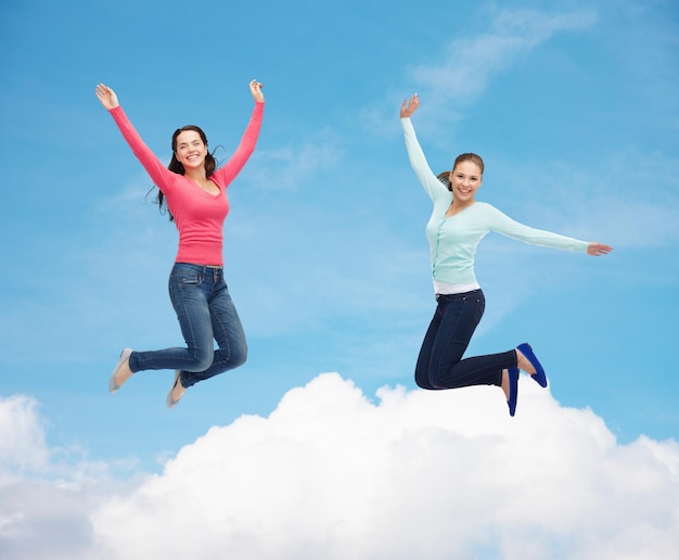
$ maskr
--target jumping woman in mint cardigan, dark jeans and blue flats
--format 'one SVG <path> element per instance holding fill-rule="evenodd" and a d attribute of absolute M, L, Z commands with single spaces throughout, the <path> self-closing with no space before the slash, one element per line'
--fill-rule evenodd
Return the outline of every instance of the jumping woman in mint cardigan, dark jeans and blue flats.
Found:
<path fill-rule="evenodd" d="M 486 233 L 497 231 L 534 245 L 591 256 L 605 255 L 612 247 L 524 226 L 490 204 L 476 201 L 484 173 L 484 162 L 476 154 L 461 154 L 452 170 L 434 175 L 410 122 L 419 106 L 417 93 L 405 100 L 400 119 L 410 165 L 434 203 L 426 237 L 437 307 L 420 349 L 415 382 L 428 390 L 500 386 L 510 415 L 514 416 L 520 369 L 541 386 L 547 386 L 547 377 L 527 343 L 507 352 L 462 359 L 486 306 L 474 275 L 478 243 Z"/>

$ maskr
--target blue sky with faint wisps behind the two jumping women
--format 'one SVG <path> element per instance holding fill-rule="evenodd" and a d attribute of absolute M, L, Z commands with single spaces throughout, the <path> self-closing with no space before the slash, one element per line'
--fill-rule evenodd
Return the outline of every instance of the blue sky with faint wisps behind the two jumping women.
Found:
<path fill-rule="evenodd" d="M 33 464 L 51 480 L 54 464 L 84 462 L 124 482 L 165 472 L 210 428 L 267 418 L 324 372 L 374 403 L 384 386 L 419 393 L 431 207 L 398 123 L 415 91 L 434 170 L 477 152 L 479 200 L 614 247 L 590 258 L 486 238 L 487 309 L 470 353 L 529 341 L 559 413 L 593 415 L 620 446 L 644 436 L 676 450 L 675 2 L 10 0 L 0 37 L 0 397 L 25 403 L 50 457 L 38 469 L 13 447 L 14 474 Z M 171 411 L 171 372 L 136 376 L 112 397 L 123 347 L 182 342 L 166 290 L 177 234 L 94 87 L 115 89 L 159 157 L 175 128 L 197 124 L 225 158 L 253 78 L 265 122 L 225 226 L 248 362 Z M 530 403 L 520 394 L 517 417 Z"/>

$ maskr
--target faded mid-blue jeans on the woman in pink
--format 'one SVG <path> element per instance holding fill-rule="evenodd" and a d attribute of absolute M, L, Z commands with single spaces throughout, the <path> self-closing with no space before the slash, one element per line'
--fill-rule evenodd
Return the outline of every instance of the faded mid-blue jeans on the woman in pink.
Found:
<path fill-rule="evenodd" d="M 223 269 L 176 263 L 168 283 L 187 347 L 133 352 L 130 369 L 179 369 L 181 384 L 190 387 L 242 366 L 247 358 L 247 343 Z M 219 349 L 214 349 L 213 339 Z"/>

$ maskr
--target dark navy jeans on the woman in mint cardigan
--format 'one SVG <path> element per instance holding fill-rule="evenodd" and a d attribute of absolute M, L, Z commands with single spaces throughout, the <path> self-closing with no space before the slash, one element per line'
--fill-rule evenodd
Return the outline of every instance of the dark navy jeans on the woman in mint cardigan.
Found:
<path fill-rule="evenodd" d="M 415 383 L 431 390 L 499 386 L 502 370 L 516 367 L 513 349 L 462 359 L 486 309 L 484 293 L 473 290 L 462 294 L 437 294 L 436 300 L 438 305 L 415 366 Z"/>

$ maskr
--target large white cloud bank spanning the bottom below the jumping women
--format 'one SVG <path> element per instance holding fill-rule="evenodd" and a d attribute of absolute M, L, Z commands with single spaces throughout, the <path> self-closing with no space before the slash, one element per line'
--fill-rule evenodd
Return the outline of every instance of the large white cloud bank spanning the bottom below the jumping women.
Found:
<path fill-rule="evenodd" d="M 679 542 L 677 442 L 619 445 L 526 379 L 511 419 L 497 387 L 371 402 L 321 374 L 124 487 L 50 467 L 30 399 L 0 419 L 2 558 L 669 559 Z"/>

